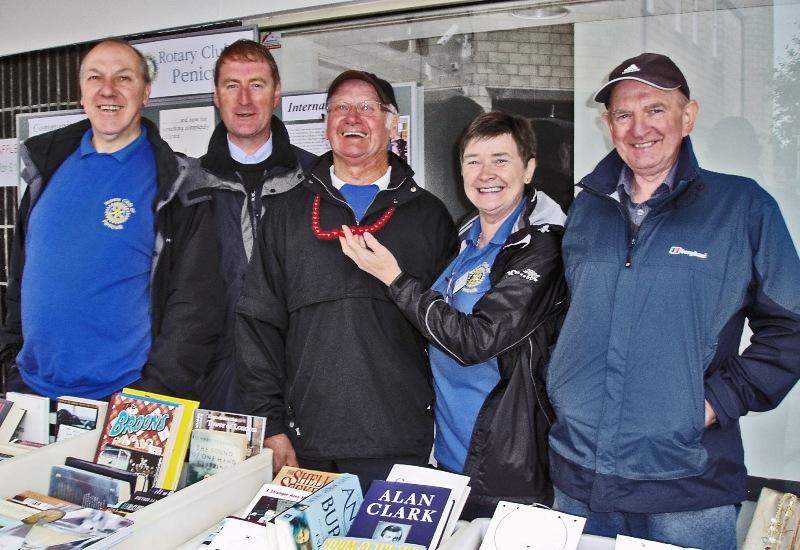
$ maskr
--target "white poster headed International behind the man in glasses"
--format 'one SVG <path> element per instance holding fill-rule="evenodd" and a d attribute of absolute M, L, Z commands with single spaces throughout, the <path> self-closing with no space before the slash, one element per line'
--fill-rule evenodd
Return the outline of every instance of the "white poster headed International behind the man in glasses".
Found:
<path fill-rule="evenodd" d="M 424 187 L 424 166 L 414 165 L 414 160 L 422 158 L 421 139 L 414 140 L 414 136 L 422 136 L 422 129 L 415 128 L 415 123 L 421 125 L 422 116 L 417 112 L 418 98 L 421 89 L 415 82 L 392 84 L 395 97 L 400 107 L 400 117 L 395 137 L 389 148 L 396 155 L 406 161 L 414 169 L 415 180 Z M 281 103 L 275 110 L 286 125 L 289 140 L 292 145 L 305 149 L 315 155 L 330 151 L 330 144 L 325 138 L 325 93 L 285 93 Z"/>

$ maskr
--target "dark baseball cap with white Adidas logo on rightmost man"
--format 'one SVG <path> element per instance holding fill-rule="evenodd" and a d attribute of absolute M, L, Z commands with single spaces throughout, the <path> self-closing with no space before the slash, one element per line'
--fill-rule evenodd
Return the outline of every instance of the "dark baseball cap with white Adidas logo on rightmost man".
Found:
<path fill-rule="evenodd" d="M 594 100 L 608 107 L 611 90 L 622 80 L 637 80 L 659 90 L 679 90 L 689 98 L 686 78 L 666 55 L 643 53 L 620 63 L 611 71 L 608 82 L 594 94 Z"/>

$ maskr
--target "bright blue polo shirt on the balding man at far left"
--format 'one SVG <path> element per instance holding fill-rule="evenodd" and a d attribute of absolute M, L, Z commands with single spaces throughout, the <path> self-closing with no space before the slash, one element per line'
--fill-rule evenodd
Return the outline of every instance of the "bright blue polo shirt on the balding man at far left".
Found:
<path fill-rule="evenodd" d="M 99 398 L 141 377 L 150 352 L 156 166 L 144 127 L 114 153 L 92 131 L 31 210 L 22 274 L 25 383 Z"/>

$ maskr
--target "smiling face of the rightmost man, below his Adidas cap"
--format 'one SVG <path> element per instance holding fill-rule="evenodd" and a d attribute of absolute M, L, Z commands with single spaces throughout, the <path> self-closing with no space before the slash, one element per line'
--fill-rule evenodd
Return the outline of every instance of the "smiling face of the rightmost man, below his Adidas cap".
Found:
<path fill-rule="evenodd" d="M 614 86 L 603 120 L 636 178 L 663 181 L 678 160 L 681 140 L 694 128 L 697 109 L 678 90 L 623 80 Z"/>

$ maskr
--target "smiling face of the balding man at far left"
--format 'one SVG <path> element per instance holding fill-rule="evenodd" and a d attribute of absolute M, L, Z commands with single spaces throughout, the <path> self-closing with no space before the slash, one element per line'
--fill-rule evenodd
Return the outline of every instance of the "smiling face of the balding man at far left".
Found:
<path fill-rule="evenodd" d="M 97 151 L 113 153 L 139 136 L 150 84 L 130 46 L 116 42 L 95 46 L 81 64 L 80 87 Z"/>

